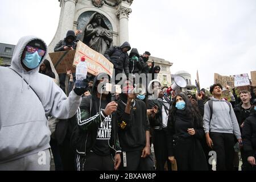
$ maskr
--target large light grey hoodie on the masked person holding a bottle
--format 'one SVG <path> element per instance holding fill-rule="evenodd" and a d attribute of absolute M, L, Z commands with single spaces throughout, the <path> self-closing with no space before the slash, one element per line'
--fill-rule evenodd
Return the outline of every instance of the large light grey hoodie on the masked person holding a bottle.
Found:
<path fill-rule="evenodd" d="M 39 73 L 40 65 L 28 72 L 22 67 L 22 52 L 35 39 L 43 42 L 35 36 L 25 36 L 14 50 L 11 68 L 23 78 L 10 68 L 0 67 L 0 163 L 49 148 L 51 132 L 46 117 L 71 118 L 81 102 L 81 96 L 71 92 L 67 98 L 52 78 Z"/>

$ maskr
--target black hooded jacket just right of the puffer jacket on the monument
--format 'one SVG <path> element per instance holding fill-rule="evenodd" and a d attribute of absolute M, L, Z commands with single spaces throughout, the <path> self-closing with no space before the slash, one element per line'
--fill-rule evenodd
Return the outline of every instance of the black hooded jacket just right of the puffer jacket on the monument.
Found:
<path fill-rule="evenodd" d="M 132 57 L 136 56 L 138 58 L 137 60 L 133 60 Z M 142 72 L 142 64 L 141 61 L 139 61 L 139 52 L 137 50 L 137 48 L 132 48 L 130 55 L 129 55 L 130 61 L 129 61 L 129 73 L 138 73 L 139 75 Z"/>

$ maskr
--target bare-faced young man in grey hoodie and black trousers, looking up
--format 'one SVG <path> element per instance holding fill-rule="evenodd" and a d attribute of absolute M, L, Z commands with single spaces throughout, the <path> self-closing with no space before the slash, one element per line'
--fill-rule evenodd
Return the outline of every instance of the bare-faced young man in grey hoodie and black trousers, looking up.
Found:
<path fill-rule="evenodd" d="M 211 98 L 204 106 L 204 131 L 207 144 L 217 154 L 217 171 L 233 171 L 234 135 L 242 143 L 240 128 L 230 102 L 222 98 L 222 86 L 210 86 Z"/>

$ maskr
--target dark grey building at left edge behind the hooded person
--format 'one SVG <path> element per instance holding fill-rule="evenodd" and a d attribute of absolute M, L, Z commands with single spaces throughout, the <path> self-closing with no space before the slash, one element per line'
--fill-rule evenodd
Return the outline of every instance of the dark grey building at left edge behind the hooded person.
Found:
<path fill-rule="evenodd" d="M 0 58 L 2 59 L 2 64 L 11 65 L 14 48 L 15 45 L 0 43 Z"/>

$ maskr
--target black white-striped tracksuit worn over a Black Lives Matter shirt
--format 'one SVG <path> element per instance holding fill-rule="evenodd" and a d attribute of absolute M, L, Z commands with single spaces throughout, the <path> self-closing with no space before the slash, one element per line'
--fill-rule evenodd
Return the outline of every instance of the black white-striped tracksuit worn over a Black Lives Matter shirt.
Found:
<path fill-rule="evenodd" d="M 121 153 L 117 122 L 104 113 L 105 106 L 110 102 L 110 94 L 101 102 L 99 108 L 100 99 L 96 95 L 96 82 L 100 75 L 94 78 L 92 96 L 82 98 L 77 111 L 77 125 L 71 137 L 71 144 L 76 150 L 76 167 L 79 171 L 114 170 L 112 158 L 115 154 Z"/>

